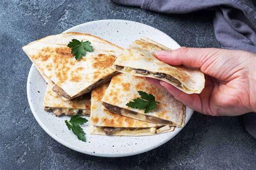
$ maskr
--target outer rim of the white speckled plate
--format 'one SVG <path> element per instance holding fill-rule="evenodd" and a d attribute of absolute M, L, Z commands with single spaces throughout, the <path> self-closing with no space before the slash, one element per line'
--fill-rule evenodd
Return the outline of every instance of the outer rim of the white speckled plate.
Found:
<path fill-rule="evenodd" d="M 120 20 L 120 19 L 105 19 L 105 20 L 95 20 L 95 21 L 92 21 L 92 22 L 87 22 L 87 23 L 83 23 L 83 24 L 80 24 L 80 25 L 77 25 L 77 26 L 74 26 L 64 32 L 75 32 L 76 28 L 77 27 L 81 27 L 81 26 L 86 26 L 87 24 L 93 24 L 93 23 L 98 23 L 98 22 L 132 22 L 132 23 L 136 23 L 136 24 L 139 24 L 141 26 L 145 25 L 145 26 L 149 26 L 149 25 L 146 25 L 146 24 L 142 24 L 142 23 L 138 23 L 138 22 L 133 22 L 131 20 Z M 149 26 L 151 27 L 151 26 Z M 151 27 L 152 29 L 155 29 L 154 27 Z M 157 30 L 157 29 L 156 29 Z M 161 32 L 160 30 L 157 30 L 159 32 Z M 163 32 L 161 32 L 163 33 Z M 165 34 L 165 33 L 163 33 Z M 166 35 L 167 36 L 167 35 Z M 169 36 L 168 36 L 169 37 Z M 174 41 L 172 38 L 170 38 L 173 42 L 176 42 Z M 178 43 L 176 42 L 176 44 L 178 45 Z M 179 46 L 179 45 L 178 45 Z M 180 46 L 179 46 L 180 47 Z M 30 92 L 30 89 L 31 89 L 31 84 L 29 83 L 30 80 L 31 80 L 31 77 L 32 77 L 32 71 L 33 69 L 36 69 L 35 68 L 35 65 L 32 64 L 31 68 L 30 68 L 30 71 L 29 71 L 29 75 L 28 75 L 28 80 L 27 80 L 27 87 L 26 87 L 26 91 L 27 91 L 27 96 L 28 96 L 28 102 L 29 102 L 29 105 L 30 105 L 30 109 L 32 111 L 32 114 L 33 116 L 36 118 L 36 121 L 38 122 L 38 124 L 43 128 L 43 130 L 49 134 L 49 136 L 51 136 L 53 139 L 55 139 L 56 141 L 58 141 L 60 144 L 66 146 L 66 147 L 69 147 L 71 148 L 72 150 L 75 150 L 77 152 L 80 152 L 80 153 L 85 153 L 85 154 L 89 154 L 89 155 L 95 155 L 95 156 L 98 156 L 98 157 L 127 157 L 127 156 L 131 156 L 131 155 L 136 155 L 136 154 L 140 154 L 140 153 L 144 153 L 144 152 L 147 152 L 147 151 L 150 151 L 150 150 L 153 150 L 154 148 L 157 148 L 163 144 L 165 144 L 167 141 L 169 141 L 170 139 L 172 139 L 174 136 L 176 136 L 183 128 L 176 128 L 176 130 L 174 130 L 172 132 L 172 136 L 170 136 L 169 138 L 166 138 L 165 140 L 162 140 L 160 141 L 158 144 L 154 145 L 153 147 L 149 147 L 149 148 L 145 148 L 144 150 L 139 150 L 139 151 L 136 151 L 136 152 L 131 152 L 131 153 L 124 153 L 124 154 L 102 154 L 102 153 L 92 153 L 92 152 L 87 152 L 86 150 L 83 150 L 79 147 L 76 147 L 76 146 L 73 146 L 71 145 L 70 143 L 67 143 L 66 141 L 62 140 L 62 139 L 59 139 L 58 136 L 55 136 L 40 120 L 40 118 L 38 117 L 38 115 L 36 114 L 36 108 L 34 107 L 34 105 L 32 104 L 32 100 L 31 100 L 31 92 Z M 191 116 L 193 115 L 193 110 L 186 107 L 186 118 L 185 118 L 185 125 L 187 124 L 187 122 L 189 121 L 189 119 L 191 118 Z M 184 125 L 184 126 L 185 126 Z M 89 134 L 90 135 L 90 134 Z"/>

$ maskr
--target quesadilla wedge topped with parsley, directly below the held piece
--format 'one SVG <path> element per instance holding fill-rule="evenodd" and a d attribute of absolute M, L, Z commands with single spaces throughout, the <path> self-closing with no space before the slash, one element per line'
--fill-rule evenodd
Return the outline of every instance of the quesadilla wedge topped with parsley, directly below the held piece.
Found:
<path fill-rule="evenodd" d="M 144 110 L 128 107 L 126 104 L 138 98 L 138 91 L 152 94 L 159 103 L 155 109 L 145 114 Z M 154 86 L 145 77 L 131 74 L 118 74 L 110 82 L 102 98 L 104 107 L 119 115 L 138 119 L 140 121 L 184 126 L 185 105 L 177 101 L 164 88 Z"/>

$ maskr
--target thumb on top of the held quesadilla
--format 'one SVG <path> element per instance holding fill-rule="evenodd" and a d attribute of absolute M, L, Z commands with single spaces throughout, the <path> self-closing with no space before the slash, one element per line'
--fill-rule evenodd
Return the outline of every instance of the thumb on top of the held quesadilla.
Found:
<path fill-rule="evenodd" d="M 217 48 L 181 47 L 172 51 L 156 51 L 156 57 L 173 66 L 185 65 L 201 68 L 216 53 Z"/>

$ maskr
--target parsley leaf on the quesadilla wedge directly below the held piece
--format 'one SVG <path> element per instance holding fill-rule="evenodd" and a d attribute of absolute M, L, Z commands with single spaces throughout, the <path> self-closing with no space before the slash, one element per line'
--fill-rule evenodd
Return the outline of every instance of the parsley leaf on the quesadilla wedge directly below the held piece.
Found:
<path fill-rule="evenodd" d="M 157 102 L 152 94 L 147 94 L 144 91 L 138 91 L 140 98 L 134 98 L 132 101 L 127 103 L 127 107 L 144 110 L 146 114 L 150 110 L 157 107 Z"/>

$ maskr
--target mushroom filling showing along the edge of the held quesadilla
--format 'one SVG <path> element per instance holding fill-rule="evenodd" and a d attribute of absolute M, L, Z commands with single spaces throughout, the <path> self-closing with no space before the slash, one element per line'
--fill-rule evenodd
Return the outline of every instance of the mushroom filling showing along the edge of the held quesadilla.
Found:
<path fill-rule="evenodd" d="M 118 65 L 115 65 L 116 66 L 116 69 L 117 70 L 122 70 L 124 69 L 123 66 L 118 66 Z M 152 72 L 149 72 L 147 70 L 144 70 L 144 69 L 135 69 L 135 68 L 127 68 L 126 70 L 133 70 L 135 73 L 137 74 L 143 74 L 143 75 L 147 75 L 147 74 L 151 74 L 153 75 L 154 77 L 157 77 L 159 79 L 167 79 L 167 80 L 170 80 L 171 82 L 177 84 L 177 86 L 181 87 L 181 82 L 174 78 L 173 76 L 171 75 L 167 75 L 165 73 L 152 73 Z"/>

